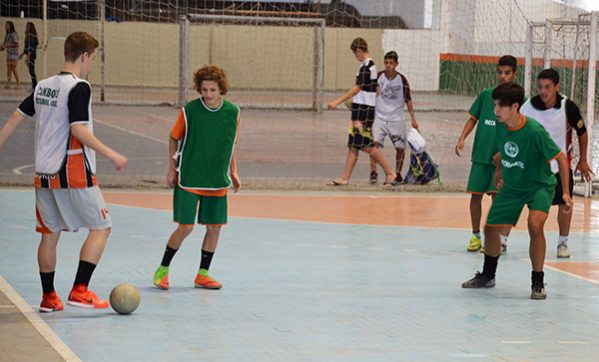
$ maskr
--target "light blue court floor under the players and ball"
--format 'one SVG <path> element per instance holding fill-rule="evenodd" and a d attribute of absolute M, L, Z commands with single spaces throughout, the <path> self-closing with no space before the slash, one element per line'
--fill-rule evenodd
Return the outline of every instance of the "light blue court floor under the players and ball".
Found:
<path fill-rule="evenodd" d="M 37 311 L 34 194 L 2 190 L 0 206 L 0 276 Z M 599 360 L 598 282 L 546 268 L 548 298 L 530 300 L 524 232 L 512 233 L 494 289 L 465 290 L 483 259 L 465 251 L 468 230 L 231 218 L 211 267 L 223 289 L 193 288 L 197 228 L 162 291 L 151 277 L 175 227 L 171 213 L 114 205 L 110 213 L 90 288 L 108 298 L 116 284 L 132 283 L 138 310 L 65 305 L 40 315 L 83 361 Z M 85 235 L 64 233 L 59 243 L 63 301 Z M 547 260 L 557 261 L 555 233 L 547 239 Z M 572 261 L 596 260 L 598 241 L 572 233 Z"/>

